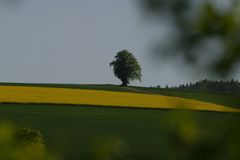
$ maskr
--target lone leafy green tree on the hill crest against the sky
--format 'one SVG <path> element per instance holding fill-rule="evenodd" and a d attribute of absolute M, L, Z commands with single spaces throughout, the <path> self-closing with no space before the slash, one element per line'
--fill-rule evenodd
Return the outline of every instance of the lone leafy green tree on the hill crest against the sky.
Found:
<path fill-rule="evenodd" d="M 122 50 L 117 53 L 115 60 L 110 63 L 117 78 L 122 81 L 122 86 L 127 86 L 130 81 L 141 81 L 141 66 L 132 53 Z"/>

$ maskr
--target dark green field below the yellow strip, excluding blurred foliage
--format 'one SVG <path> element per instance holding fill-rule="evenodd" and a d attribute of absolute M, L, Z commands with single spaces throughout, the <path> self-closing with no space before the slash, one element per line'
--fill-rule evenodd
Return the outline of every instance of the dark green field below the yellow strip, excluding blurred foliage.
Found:
<path fill-rule="evenodd" d="M 110 145 L 112 139 L 124 143 L 124 153 L 115 159 L 170 159 L 173 149 L 167 143 L 167 126 L 179 118 L 171 118 L 174 113 L 90 106 L 0 105 L 2 119 L 40 130 L 47 147 L 67 160 L 94 159 L 94 148 Z M 188 113 L 198 120 L 200 130 L 216 136 L 227 120 L 240 120 L 239 114 Z"/>

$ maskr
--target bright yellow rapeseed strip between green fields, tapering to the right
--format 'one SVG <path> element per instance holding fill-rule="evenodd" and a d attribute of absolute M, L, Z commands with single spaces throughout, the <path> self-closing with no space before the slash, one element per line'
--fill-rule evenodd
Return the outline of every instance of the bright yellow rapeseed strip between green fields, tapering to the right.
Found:
<path fill-rule="evenodd" d="M 239 112 L 221 105 L 154 94 L 47 87 L 0 86 L 1 103 L 56 103 Z"/>

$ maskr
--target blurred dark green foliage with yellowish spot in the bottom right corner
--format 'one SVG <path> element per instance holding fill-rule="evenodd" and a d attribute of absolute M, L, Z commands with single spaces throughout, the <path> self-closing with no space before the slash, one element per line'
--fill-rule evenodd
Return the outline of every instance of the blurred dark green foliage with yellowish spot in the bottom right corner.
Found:
<path fill-rule="evenodd" d="M 238 160 L 240 159 L 240 125 L 234 119 L 201 129 L 202 122 L 193 114 L 178 111 L 167 120 L 168 147 L 171 159 Z M 220 131 L 216 134 L 216 130 Z"/>

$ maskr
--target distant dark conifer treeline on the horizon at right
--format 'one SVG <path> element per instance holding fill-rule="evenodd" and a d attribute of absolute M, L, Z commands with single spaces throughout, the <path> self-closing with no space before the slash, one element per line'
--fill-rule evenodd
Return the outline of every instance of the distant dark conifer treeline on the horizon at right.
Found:
<path fill-rule="evenodd" d="M 157 88 L 161 88 L 157 86 Z M 179 89 L 179 90 L 198 90 L 198 91 L 211 91 L 211 92 L 228 92 L 240 93 L 240 82 L 231 79 L 228 81 L 213 81 L 213 80 L 200 80 L 195 83 L 180 84 L 179 86 L 165 87 L 165 89 Z"/>

